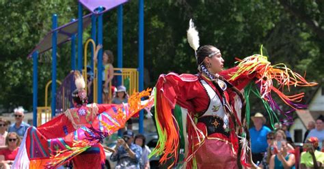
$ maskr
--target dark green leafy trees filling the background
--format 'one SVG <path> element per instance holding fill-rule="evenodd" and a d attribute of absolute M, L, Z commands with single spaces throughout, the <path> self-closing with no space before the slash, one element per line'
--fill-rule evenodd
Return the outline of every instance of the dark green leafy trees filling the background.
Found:
<path fill-rule="evenodd" d="M 226 67 L 234 58 L 260 51 L 260 44 L 272 63 L 285 63 L 296 72 L 307 72 L 309 80 L 321 82 L 324 67 L 323 1 L 145 1 L 145 61 L 154 86 L 159 74 L 195 73 L 194 52 L 187 44 L 186 31 L 193 18 L 200 32 L 200 44 L 219 48 Z M 137 67 L 138 1 L 124 5 L 124 67 Z M 32 106 L 32 61 L 27 55 L 51 30 L 51 16 L 59 25 L 77 18 L 77 2 L 0 2 L 0 101 L 4 108 Z M 87 14 L 84 10 L 84 14 Z M 83 41 L 90 37 L 85 30 Z M 117 10 L 104 15 L 104 49 L 117 56 Z M 70 71 L 70 43 L 57 51 L 57 79 Z M 116 61 L 114 65 L 116 65 Z M 44 87 L 51 80 L 51 51 L 39 58 L 38 105 L 44 105 Z"/>

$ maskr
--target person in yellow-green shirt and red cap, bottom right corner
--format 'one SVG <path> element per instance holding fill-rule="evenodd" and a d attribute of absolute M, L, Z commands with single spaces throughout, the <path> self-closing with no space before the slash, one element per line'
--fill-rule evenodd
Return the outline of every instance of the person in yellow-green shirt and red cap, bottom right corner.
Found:
<path fill-rule="evenodd" d="M 301 153 L 300 168 L 322 168 L 324 153 L 317 151 L 319 147 L 319 139 L 316 137 L 310 137 L 306 141 L 306 144 L 303 144 L 303 153 Z"/>

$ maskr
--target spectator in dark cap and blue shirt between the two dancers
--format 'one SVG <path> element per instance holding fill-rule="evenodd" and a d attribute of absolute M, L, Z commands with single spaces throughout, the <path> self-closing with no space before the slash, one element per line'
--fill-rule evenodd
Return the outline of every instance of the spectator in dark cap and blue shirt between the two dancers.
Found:
<path fill-rule="evenodd" d="M 110 156 L 112 162 L 117 162 L 115 168 L 138 168 L 141 160 L 141 147 L 134 144 L 134 133 L 126 130 L 122 138 L 117 140 L 115 152 Z"/>

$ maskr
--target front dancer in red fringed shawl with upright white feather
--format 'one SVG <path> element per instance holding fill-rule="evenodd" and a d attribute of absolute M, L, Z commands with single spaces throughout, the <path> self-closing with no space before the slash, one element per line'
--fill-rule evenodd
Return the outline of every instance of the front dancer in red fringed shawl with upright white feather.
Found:
<path fill-rule="evenodd" d="M 162 74 L 156 84 L 155 120 L 159 142 L 151 155 L 176 168 L 256 167 L 249 151 L 249 133 L 242 89 L 255 80 L 262 98 L 271 101 L 275 91 L 289 105 L 302 94 L 288 97 L 272 86 L 311 86 L 298 74 L 270 65 L 254 55 L 239 66 L 223 70 L 224 59 L 215 46 L 199 45 L 198 31 L 190 21 L 187 38 L 195 50 L 198 74 Z M 292 76 L 289 76 L 292 74 Z"/>

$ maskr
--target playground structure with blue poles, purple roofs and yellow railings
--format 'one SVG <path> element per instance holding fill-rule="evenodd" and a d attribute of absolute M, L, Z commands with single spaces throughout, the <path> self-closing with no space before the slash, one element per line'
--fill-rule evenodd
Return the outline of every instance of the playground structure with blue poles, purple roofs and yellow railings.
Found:
<path fill-rule="evenodd" d="M 33 59 L 33 125 L 38 126 L 42 122 L 46 122 L 57 115 L 59 112 L 64 112 L 68 107 L 57 108 L 55 100 L 58 96 L 65 98 L 64 94 L 59 95 L 57 93 L 57 77 L 56 77 L 56 67 L 57 67 L 57 45 L 64 44 L 65 42 L 71 41 L 71 70 L 79 70 L 83 72 L 83 76 L 86 77 L 87 70 L 87 58 L 86 50 L 87 44 L 85 44 L 85 58 L 84 58 L 84 68 L 83 70 L 83 29 L 88 25 L 92 25 L 92 55 L 91 61 L 93 61 L 94 49 L 96 44 L 103 44 L 103 14 L 113 7 L 118 7 L 118 64 L 114 69 L 115 76 L 118 76 L 118 85 L 126 84 L 128 85 L 129 93 L 134 91 L 142 91 L 144 89 L 144 0 L 139 0 L 139 47 L 138 47 L 138 68 L 124 68 L 122 66 L 122 15 L 123 15 L 123 4 L 127 0 L 114 0 L 114 1 L 100 1 L 100 0 L 79 0 L 78 1 L 78 20 L 72 20 L 66 25 L 57 27 L 57 15 L 53 14 L 52 22 L 53 27 L 50 33 L 48 33 L 44 40 L 42 40 L 36 48 L 32 50 L 29 54 L 29 57 Z M 90 14 L 82 16 L 83 7 L 87 10 L 90 10 Z M 98 22 L 98 25 L 96 25 Z M 98 29 L 96 29 L 96 26 Z M 76 38 L 77 37 L 77 38 Z M 76 39 L 78 41 L 78 51 L 75 50 Z M 43 52 L 52 49 L 52 80 L 46 84 L 45 91 L 45 106 L 38 107 L 38 55 Z M 76 59 L 77 53 L 77 59 Z M 101 62 L 103 58 L 103 49 L 100 49 L 98 52 L 98 65 L 91 63 L 92 70 L 94 74 L 97 75 L 94 78 L 94 102 L 100 104 L 102 103 L 102 76 L 98 76 L 98 72 L 103 72 L 103 63 Z M 77 67 L 75 61 L 77 60 Z M 52 82 L 52 83 L 51 83 Z M 47 89 L 51 83 L 51 108 L 47 106 Z M 62 82 L 64 83 L 64 81 Z M 63 85 L 63 84 L 62 84 Z M 62 86 L 61 85 L 61 86 Z M 109 84 L 111 87 L 111 83 Z M 70 89 L 72 90 L 72 89 Z M 63 90 L 66 91 L 66 90 Z M 111 92 L 110 92 L 111 94 Z M 71 102 L 71 100 L 64 99 L 63 102 Z M 72 104 L 71 104 L 72 106 Z M 42 113 L 43 112 L 43 113 Z M 39 114 L 38 114 L 39 113 Z M 51 114 L 51 115 L 50 115 Z M 139 112 L 139 133 L 144 132 L 143 127 L 144 114 L 143 110 Z"/>

